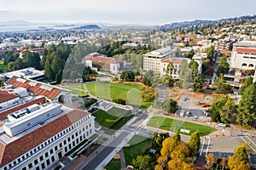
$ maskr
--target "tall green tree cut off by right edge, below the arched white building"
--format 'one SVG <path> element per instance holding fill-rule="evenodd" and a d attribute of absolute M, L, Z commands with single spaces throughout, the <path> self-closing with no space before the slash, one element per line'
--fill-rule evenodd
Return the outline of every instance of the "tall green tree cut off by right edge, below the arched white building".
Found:
<path fill-rule="evenodd" d="M 246 88 L 238 105 L 236 122 L 243 127 L 255 125 L 256 121 L 256 82 Z"/>

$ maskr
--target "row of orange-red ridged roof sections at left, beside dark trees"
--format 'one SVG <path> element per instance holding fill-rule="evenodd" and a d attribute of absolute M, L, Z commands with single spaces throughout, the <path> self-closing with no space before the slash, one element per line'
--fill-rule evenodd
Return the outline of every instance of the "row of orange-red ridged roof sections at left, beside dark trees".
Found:
<path fill-rule="evenodd" d="M 41 85 L 43 84 L 42 82 L 37 82 L 38 84 L 36 86 L 30 85 L 30 82 L 30 80 L 26 80 L 26 82 L 18 82 L 17 77 L 12 77 L 7 84 L 13 85 L 15 88 L 26 88 L 27 91 L 32 94 L 44 95 L 48 99 L 54 99 L 55 96 L 61 92 L 60 88 L 52 88 L 51 90 L 41 88 Z M 44 85 L 47 86 L 46 84 Z"/>

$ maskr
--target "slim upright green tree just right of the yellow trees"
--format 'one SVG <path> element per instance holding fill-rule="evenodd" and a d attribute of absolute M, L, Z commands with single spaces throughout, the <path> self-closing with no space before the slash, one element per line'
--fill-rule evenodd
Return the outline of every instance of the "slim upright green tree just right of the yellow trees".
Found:
<path fill-rule="evenodd" d="M 198 131 L 192 133 L 189 139 L 189 149 L 192 152 L 192 156 L 199 156 L 199 149 L 200 149 L 201 141 L 200 135 Z"/>

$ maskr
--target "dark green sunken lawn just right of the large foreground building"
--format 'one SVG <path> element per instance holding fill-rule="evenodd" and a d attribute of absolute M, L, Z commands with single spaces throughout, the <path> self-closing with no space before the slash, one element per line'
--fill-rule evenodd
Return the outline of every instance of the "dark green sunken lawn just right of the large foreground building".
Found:
<path fill-rule="evenodd" d="M 102 110 L 96 111 L 92 115 L 96 117 L 95 121 L 102 125 L 102 127 L 113 130 L 118 130 L 132 117 L 131 111 L 124 111 L 115 107 L 108 112 Z"/>

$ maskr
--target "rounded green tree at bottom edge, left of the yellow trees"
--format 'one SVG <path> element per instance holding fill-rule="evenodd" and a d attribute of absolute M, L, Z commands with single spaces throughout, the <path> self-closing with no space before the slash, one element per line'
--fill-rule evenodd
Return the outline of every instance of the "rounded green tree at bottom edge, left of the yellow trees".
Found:
<path fill-rule="evenodd" d="M 146 156 L 137 156 L 136 159 L 131 161 L 131 165 L 137 170 L 150 170 L 150 159 L 151 157 Z"/>

